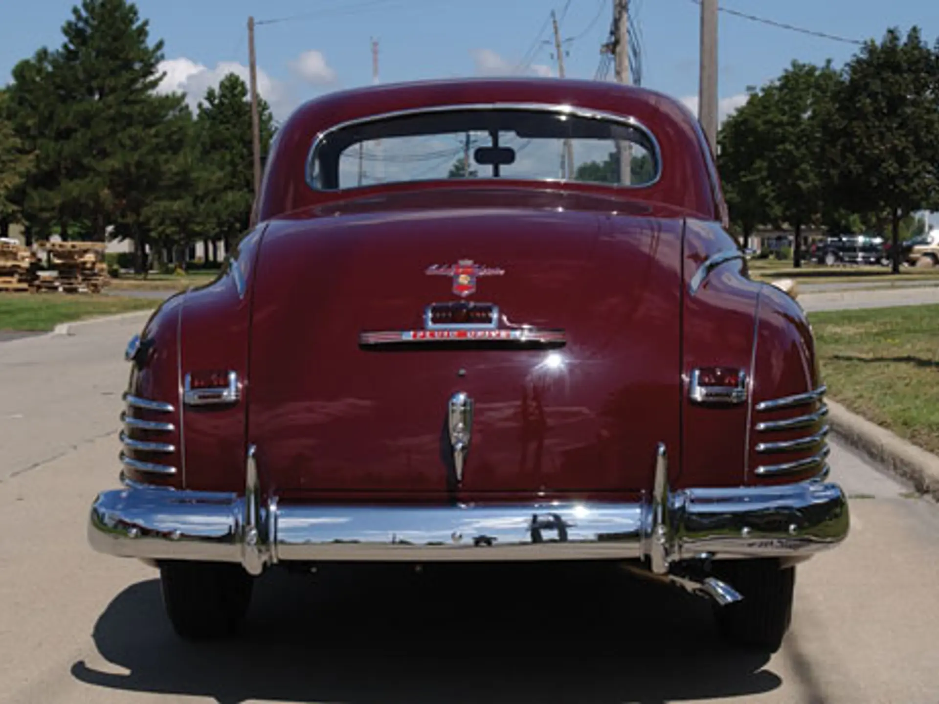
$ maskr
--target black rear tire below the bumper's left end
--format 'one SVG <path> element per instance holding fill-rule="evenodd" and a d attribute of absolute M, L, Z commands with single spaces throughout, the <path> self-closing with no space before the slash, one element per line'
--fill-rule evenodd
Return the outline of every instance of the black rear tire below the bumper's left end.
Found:
<path fill-rule="evenodd" d="M 238 631 L 251 604 L 254 579 L 235 564 L 163 562 L 160 585 L 177 635 L 207 640 Z"/>

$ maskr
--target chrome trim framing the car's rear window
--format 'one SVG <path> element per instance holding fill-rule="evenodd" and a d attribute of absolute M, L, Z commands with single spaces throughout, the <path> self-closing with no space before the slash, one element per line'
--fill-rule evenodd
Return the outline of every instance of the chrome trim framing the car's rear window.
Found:
<path fill-rule="evenodd" d="M 461 111 L 485 111 L 485 110 L 517 110 L 517 111 L 528 111 L 528 112 L 543 112 L 543 113 L 557 113 L 560 115 L 574 115 L 576 117 L 583 117 L 585 119 L 593 120 L 608 120 L 610 122 L 616 122 L 621 125 L 626 125 L 628 127 L 634 128 L 641 131 L 648 137 L 650 144 L 653 147 L 653 156 L 655 159 L 655 177 L 647 182 L 638 186 L 633 186 L 631 184 L 624 183 L 594 183 L 593 181 L 574 181 L 573 179 L 568 178 L 493 178 L 489 177 L 476 177 L 473 178 L 473 183 L 487 183 L 491 185 L 492 183 L 500 183 L 501 181 L 529 181 L 531 183 L 591 183 L 599 186 L 608 186 L 613 189 L 624 189 L 624 190 L 637 190 L 637 189 L 646 189 L 654 186 L 662 178 L 663 164 L 662 164 L 662 150 L 658 144 L 658 140 L 655 139 L 654 132 L 645 126 L 644 123 L 640 122 L 635 117 L 629 115 L 617 115 L 615 113 L 608 113 L 603 110 L 594 110 L 593 108 L 583 108 L 577 105 L 564 105 L 551 102 L 471 102 L 471 103 L 448 103 L 447 105 L 426 105 L 420 108 L 407 108 L 404 110 L 393 110 L 389 113 L 380 113 L 378 115 L 368 115 L 366 117 L 357 117 L 352 120 L 346 120 L 345 122 L 340 122 L 337 125 L 333 125 L 330 128 L 325 130 L 320 130 L 316 132 L 316 136 L 313 138 L 313 143 L 310 145 L 310 149 L 306 155 L 306 167 L 304 168 L 304 178 L 306 180 L 306 185 L 309 186 L 314 191 L 320 193 L 343 193 L 348 191 L 361 191 L 362 189 L 375 188 L 376 186 L 387 186 L 393 184 L 408 184 L 408 183 L 428 183 L 433 181 L 442 181 L 447 182 L 449 179 L 446 178 L 424 178 L 424 179 L 414 179 L 410 181 L 391 181 L 387 184 L 369 184 L 367 186 L 348 186 L 346 188 L 338 189 L 321 189 L 316 185 L 315 174 L 315 157 L 316 157 L 316 147 L 319 146 L 319 143 L 322 142 L 326 137 L 330 136 L 333 132 L 339 130 L 346 130 L 350 127 L 355 127 L 357 125 L 363 125 L 370 122 L 380 122 L 382 120 L 394 119 L 396 117 L 408 117 L 410 115 L 422 115 L 426 113 L 454 113 Z M 469 180 L 469 179 L 467 179 Z"/>

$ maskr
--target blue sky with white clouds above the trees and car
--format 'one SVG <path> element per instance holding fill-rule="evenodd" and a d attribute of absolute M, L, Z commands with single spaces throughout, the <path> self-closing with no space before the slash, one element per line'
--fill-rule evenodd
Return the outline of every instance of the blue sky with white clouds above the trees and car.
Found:
<path fill-rule="evenodd" d="M 562 22 L 569 76 L 593 78 L 608 33 L 612 0 L 571 0 Z M 194 101 L 227 70 L 247 65 L 248 15 L 258 20 L 302 14 L 257 27 L 261 91 L 284 117 L 324 91 L 371 82 L 370 38 L 379 40 L 382 82 L 505 73 L 516 69 L 566 0 L 141 0 L 151 36 L 165 41 L 164 87 Z M 0 26 L 0 76 L 41 45 L 61 43 L 73 2 L 8 2 Z M 698 92 L 699 8 L 692 0 L 633 0 L 643 38 L 643 84 L 693 103 Z M 847 38 L 880 38 L 886 27 L 918 24 L 939 37 L 936 0 L 726 0 L 722 6 Z M 592 22 L 597 18 L 595 23 Z M 546 31 L 543 39 L 549 38 Z M 793 58 L 841 64 L 856 47 L 808 37 L 721 13 L 719 91 L 724 112 L 747 85 L 778 75 Z M 555 69 L 553 48 L 536 44 L 531 70 Z"/>

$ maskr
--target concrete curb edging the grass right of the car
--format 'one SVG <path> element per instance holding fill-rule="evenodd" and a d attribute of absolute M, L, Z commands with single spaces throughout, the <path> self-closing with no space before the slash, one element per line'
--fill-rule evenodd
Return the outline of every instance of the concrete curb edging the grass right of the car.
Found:
<path fill-rule="evenodd" d="M 828 404 L 828 422 L 835 434 L 867 452 L 894 474 L 913 482 L 916 491 L 939 499 L 939 457 L 861 418 L 837 401 L 826 399 L 825 403 Z"/>

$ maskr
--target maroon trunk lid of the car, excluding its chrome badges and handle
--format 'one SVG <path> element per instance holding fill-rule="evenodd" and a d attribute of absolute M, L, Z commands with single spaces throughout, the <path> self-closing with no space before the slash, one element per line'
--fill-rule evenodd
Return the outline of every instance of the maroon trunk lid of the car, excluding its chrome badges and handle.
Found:
<path fill-rule="evenodd" d="M 626 492 L 677 449 L 682 221 L 434 207 L 273 222 L 254 283 L 249 438 L 280 493 L 406 499 Z M 454 294 L 433 265 L 500 269 Z M 465 283 L 465 282 L 463 282 Z M 557 349 L 365 347 L 435 302 L 563 329 Z M 473 418 L 456 482 L 448 403 Z"/>

